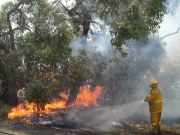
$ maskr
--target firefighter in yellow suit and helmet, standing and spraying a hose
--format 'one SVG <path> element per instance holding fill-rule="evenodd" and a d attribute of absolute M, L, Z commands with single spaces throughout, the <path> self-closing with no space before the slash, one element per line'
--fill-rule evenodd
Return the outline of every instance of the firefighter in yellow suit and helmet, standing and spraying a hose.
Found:
<path fill-rule="evenodd" d="M 161 90 L 158 88 L 158 81 L 155 79 L 150 80 L 151 91 L 145 98 L 145 101 L 149 103 L 149 112 L 152 124 L 153 133 L 162 133 L 161 125 L 161 112 L 163 106 L 163 96 Z"/>

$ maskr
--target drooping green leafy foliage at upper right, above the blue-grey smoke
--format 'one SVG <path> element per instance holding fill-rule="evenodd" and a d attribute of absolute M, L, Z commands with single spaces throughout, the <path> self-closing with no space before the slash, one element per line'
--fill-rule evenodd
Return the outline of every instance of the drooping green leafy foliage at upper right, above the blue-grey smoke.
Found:
<path fill-rule="evenodd" d="M 112 43 L 122 51 L 122 45 L 133 39 L 145 41 L 151 33 L 157 32 L 165 11 L 164 0 L 136 1 L 124 12 L 120 20 L 112 23 Z"/>

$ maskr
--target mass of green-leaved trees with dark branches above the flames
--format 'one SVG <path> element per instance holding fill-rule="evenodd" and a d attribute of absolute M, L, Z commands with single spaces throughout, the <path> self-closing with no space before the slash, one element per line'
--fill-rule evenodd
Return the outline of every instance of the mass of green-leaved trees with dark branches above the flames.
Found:
<path fill-rule="evenodd" d="M 165 0 L 71 2 L 17 0 L 2 6 L 0 69 L 6 102 L 12 99 L 11 103 L 17 103 L 16 92 L 22 87 L 31 93 L 32 98 L 29 100 L 37 100 L 63 88 L 65 83 L 60 80 L 64 76 L 71 83 L 75 81 L 71 89 L 77 89 L 88 79 L 79 72 L 89 70 L 83 64 L 90 59 L 83 58 L 86 58 L 85 53 L 72 55 L 70 43 L 74 37 L 82 37 L 78 44 L 88 46 L 88 36 L 97 33 L 92 25 L 102 33 L 104 27 L 96 18 L 106 23 L 108 29 L 104 32 L 111 34 L 112 45 L 124 54 L 122 46 L 130 44 L 128 41 L 143 41 L 149 34 L 156 32 L 166 12 Z M 89 73 L 93 75 L 93 72 Z M 54 79 L 54 83 L 47 78 Z M 37 88 L 41 89 L 38 97 L 32 95 Z M 43 104 L 48 99 L 37 102 Z"/>

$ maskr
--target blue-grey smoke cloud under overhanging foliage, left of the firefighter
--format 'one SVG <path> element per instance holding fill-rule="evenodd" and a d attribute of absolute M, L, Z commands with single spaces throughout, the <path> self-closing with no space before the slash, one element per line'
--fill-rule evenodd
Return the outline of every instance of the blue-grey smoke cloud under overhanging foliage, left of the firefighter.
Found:
<path fill-rule="evenodd" d="M 118 61 L 110 63 L 103 72 L 111 99 L 118 104 L 144 99 L 150 89 L 149 80 L 160 78 L 160 65 L 165 57 L 164 46 L 157 36 L 151 36 L 146 44 L 133 41 L 126 51 L 126 58 L 118 55 Z"/>

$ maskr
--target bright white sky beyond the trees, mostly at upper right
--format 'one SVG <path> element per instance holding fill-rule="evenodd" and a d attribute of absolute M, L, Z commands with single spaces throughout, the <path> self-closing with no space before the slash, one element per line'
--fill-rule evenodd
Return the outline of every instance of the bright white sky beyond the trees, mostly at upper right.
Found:
<path fill-rule="evenodd" d="M 0 5 L 10 1 L 10 0 L 0 0 Z M 179 8 L 177 8 L 177 11 L 174 15 L 168 13 L 165 15 L 164 20 L 161 24 L 161 28 L 159 30 L 159 36 L 163 37 L 167 34 L 176 32 L 178 27 L 180 27 L 180 4 Z M 166 52 L 167 57 L 169 59 L 173 60 L 175 57 L 180 58 L 180 31 L 179 33 L 169 36 L 165 39 L 163 39 L 164 42 L 167 43 L 166 45 Z"/>

